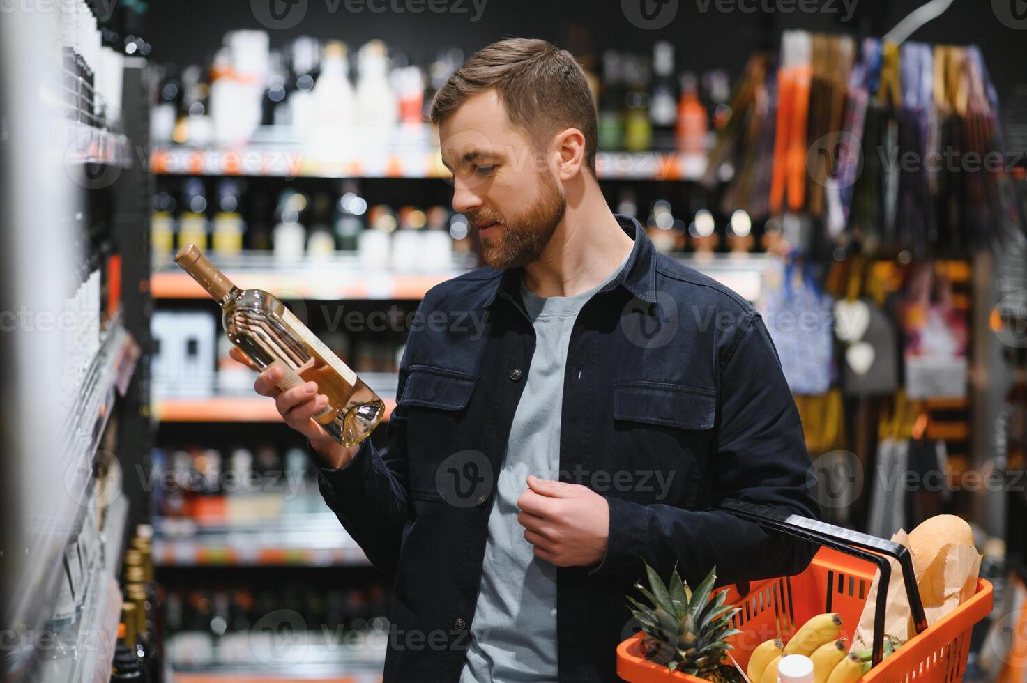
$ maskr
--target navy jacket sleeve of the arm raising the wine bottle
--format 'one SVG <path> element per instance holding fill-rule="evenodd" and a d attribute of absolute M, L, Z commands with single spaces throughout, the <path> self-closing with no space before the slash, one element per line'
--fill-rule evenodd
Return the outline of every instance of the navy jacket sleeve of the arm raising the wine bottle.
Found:
<path fill-rule="evenodd" d="M 400 363 L 396 399 L 410 373 L 411 333 Z M 379 451 L 366 439 L 353 459 L 338 469 L 314 465 L 325 502 L 364 551 L 371 563 L 395 576 L 403 532 L 413 509 L 407 494 L 407 410 L 396 406 L 387 425 L 387 448 Z"/>

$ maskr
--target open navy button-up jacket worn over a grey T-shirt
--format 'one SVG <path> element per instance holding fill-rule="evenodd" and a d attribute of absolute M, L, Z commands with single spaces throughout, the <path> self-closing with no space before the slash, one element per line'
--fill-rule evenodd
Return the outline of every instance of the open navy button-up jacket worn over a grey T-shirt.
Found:
<path fill-rule="evenodd" d="M 815 548 L 718 509 L 725 498 L 819 517 L 795 402 L 763 320 L 741 297 L 635 245 L 571 333 L 560 479 L 610 506 L 606 557 L 557 572 L 561 681 L 617 681 L 631 635 L 624 596 L 642 558 L 691 585 L 801 571 Z M 443 282 L 418 310 L 383 451 L 365 442 L 320 469 L 329 506 L 374 565 L 394 577 L 385 683 L 456 683 L 482 574 L 495 478 L 534 330 L 520 269 Z M 483 322 L 484 321 L 484 322 Z M 482 322 L 482 325 L 476 325 Z M 525 541 L 527 542 L 527 541 Z M 512 615 L 511 615 L 512 618 Z"/>

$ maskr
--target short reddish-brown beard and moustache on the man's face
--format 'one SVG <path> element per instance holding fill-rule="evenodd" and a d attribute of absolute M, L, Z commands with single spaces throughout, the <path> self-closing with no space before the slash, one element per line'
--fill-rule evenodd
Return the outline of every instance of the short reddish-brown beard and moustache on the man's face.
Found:
<path fill-rule="evenodd" d="M 564 220 L 567 199 L 553 176 L 539 175 L 542 179 L 541 196 L 523 215 L 509 221 L 482 214 L 469 217 L 472 222 L 491 218 L 500 223 L 497 236 L 482 239 L 482 256 L 497 270 L 524 267 L 537 260 L 548 245 L 560 221 Z"/>

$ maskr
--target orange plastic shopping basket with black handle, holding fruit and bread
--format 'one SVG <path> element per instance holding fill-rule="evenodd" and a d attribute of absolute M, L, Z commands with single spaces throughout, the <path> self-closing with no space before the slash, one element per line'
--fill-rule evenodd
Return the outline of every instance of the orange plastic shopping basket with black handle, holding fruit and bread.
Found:
<path fill-rule="evenodd" d="M 927 627 L 913 574 L 912 557 L 901 543 L 741 501 L 724 501 L 723 507 L 767 529 L 798 536 L 822 546 L 809 566 L 799 574 L 721 589 L 727 591 L 727 602 L 741 607 L 732 621 L 732 625 L 741 633 L 728 640 L 734 646 L 731 654 L 743 670 L 757 645 L 778 636 L 787 640 L 815 614 L 838 612 L 844 621 L 842 634 L 851 638 L 863 613 L 874 572 L 879 570 L 881 579 L 873 643 L 875 665 L 860 680 L 876 683 L 953 683 L 962 680 L 969 653 L 971 631 L 975 623 L 991 612 L 991 583 L 978 579 L 977 594 L 973 598 Z M 891 576 L 891 566 L 885 556 L 899 561 L 903 569 L 902 577 Z M 902 580 L 905 584 L 917 635 L 882 661 L 883 614 L 887 583 L 892 579 Z M 646 659 L 642 654 L 641 641 L 642 634 L 639 633 L 617 647 L 617 675 L 620 678 L 633 683 L 699 683 L 703 680 L 671 672 L 665 665 Z"/>

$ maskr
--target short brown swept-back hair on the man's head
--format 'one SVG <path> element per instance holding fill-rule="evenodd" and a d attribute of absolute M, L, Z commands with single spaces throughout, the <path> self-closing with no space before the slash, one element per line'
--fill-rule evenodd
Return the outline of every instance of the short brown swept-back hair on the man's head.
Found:
<path fill-rule="evenodd" d="M 585 161 L 596 175 L 596 104 L 584 72 L 570 52 L 529 38 L 500 40 L 480 49 L 435 92 L 431 122 L 439 123 L 467 98 L 492 88 L 510 122 L 536 141 L 566 127 L 579 129 L 584 135 Z"/>

